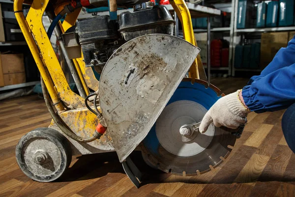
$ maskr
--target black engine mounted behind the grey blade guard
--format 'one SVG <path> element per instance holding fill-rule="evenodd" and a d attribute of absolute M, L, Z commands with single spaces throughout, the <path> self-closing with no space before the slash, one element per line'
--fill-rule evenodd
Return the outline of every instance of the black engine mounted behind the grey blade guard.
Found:
<path fill-rule="evenodd" d="M 76 32 L 86 66 L 102 72 L 111 55 L 125 42 L 151 34 L 173 34 L 175 21 L 163 5 L 145 2 L 134 6 L 134 12 L 123 12 L 117 21 L 108 15 L 93 15 L 77 21 Z"/>

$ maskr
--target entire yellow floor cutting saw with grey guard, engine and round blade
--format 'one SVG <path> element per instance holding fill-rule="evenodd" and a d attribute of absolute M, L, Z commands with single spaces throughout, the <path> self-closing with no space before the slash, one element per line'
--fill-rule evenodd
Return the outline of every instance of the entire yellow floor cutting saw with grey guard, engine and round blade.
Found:
<path fill-rule="evenodd" d="M 184 0 L 170 0 L 184 39 L 173 35 L 176 21 L 167 7 L 144 0 L 23 0 L 14 11 L 40 70 L 49 128 L 24 135 L 16 147 L 23 172 L 36 181 L 59 178 L 72 155 L 116 151 L 139 187 L 141 173 L 129 158 L 177 175 L 213 170 L 230 154 L 236 135 L 198 124 L 224 94 L 207 83 Z M 109 15 L 78 19 L 82 7 L 109 5 Z M 134 7 L 118 14 L 117 7 Z M 46 11 L 52 19 L 42 24 Z M 114 17 L 115 16 L 115 17 Z M 65 17 L 63 23 L 60 18 Z M 77 21 L 76 21 L 77 20 Z M 79 94 L 72 92 L 50 43 L 55 32 Z M 93 69 L 92 69 L 93 68 Z M 99 81 L 94 72 L 100 74 Z M 92 91 L 92 93 L 91 93 Z"/>

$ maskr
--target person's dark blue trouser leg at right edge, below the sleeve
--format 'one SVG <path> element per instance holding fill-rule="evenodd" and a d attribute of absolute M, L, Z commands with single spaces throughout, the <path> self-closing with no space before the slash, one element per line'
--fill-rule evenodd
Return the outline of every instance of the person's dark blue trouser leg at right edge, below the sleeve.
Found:
<path fill-rule="evenodd" d="M 283 115 L 282 130 L 288 146 L 295 153 L 295 103 Z"/>

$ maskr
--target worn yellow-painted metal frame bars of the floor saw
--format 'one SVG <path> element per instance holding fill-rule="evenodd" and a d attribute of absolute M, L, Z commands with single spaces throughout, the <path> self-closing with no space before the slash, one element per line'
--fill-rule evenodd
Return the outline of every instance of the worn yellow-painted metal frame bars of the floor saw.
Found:
<path fill-rule="evenodd" d="M 90 135 L 90 131 L 94 131 L 97 118 L 85 108 L 84 99 L 75 94 L 69 88 L 64 73 L 59 65 L 58 58 L 53 50 L 47 33 L 42 23 L 42 16 L 48 5 L 49 0 L 33 0 L 27 18 L 22 11 L 24 0 L 14 0 L 14 11 L 16 19 L 28 43 L 32 56 L 38 66 L 41 76 L 48 89 L 50 97 L 59 111 L 60 117 L 66 124 L 73 127 L 73 131 L 80 135 Z M 178 18 L 181 21 L 184 39 L 197 46 L 195 41 L 192 22 L 189 10 L 184 0 L 170 0 Z M 59 8 L 56 8 L 58 10 Z M 77 17 L 81 9 L 77 9 L 68 14 L 59 26 L 62 32 L 66 32 L 75 25 Z M 90 67 L 85 67 L 83 57 L 73 60 L 82 86 L 89 95 L 89 89 L 98 90 L 99 82 L 96 80 L 94 73 Z M 195 78 L 199 79 L 198 64 L 202 64 L 200 56 L 195 60 L 190 68 L 189 75 L 194 83 Z M 203 66 L 202 66 L 203 68 Z M 204 69 L 204 68 L 203 68 Z M 74 110 L 65 110 L 61 101 L 73 106 Z M 75 121 L 80 120 L 80 121 Z M 83 132 L 87 131 L 87 133 Z M 102 140 L 106 143 L 107 140 Z"/>

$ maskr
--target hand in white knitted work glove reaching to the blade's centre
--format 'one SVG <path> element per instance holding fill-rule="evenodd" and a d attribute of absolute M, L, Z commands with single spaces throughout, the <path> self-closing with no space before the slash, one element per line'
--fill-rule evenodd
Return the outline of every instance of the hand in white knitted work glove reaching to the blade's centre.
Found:
<path fill-rule="evenodd" d="M 250 110 L 239 98 L 239 93 L 240 90 L 217 100 L 205 114 L 199 131 L 206 132 L 212 122 L 216 127 L 225 126 L 230 129 L 246 123 Z"/>

